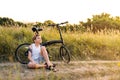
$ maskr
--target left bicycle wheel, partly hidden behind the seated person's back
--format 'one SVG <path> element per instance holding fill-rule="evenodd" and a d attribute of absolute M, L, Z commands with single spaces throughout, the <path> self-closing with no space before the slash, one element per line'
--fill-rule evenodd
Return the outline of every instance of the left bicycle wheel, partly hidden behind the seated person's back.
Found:
<path fill-rule="evenodd" d="M 27 64 L 29 62 L 28 60 L 28 48 L 30 44 L 24 43 L 17 47 L 15 51 L 15 58 L 18 62 L 22 64 Z"/>

